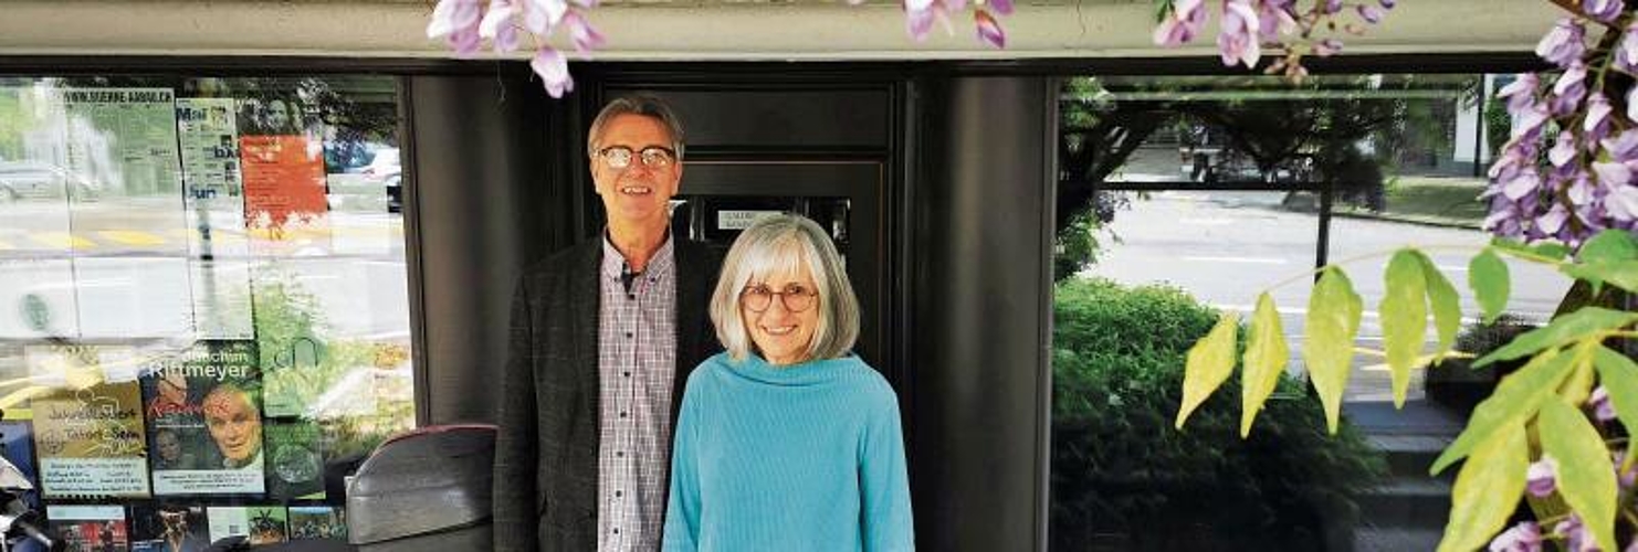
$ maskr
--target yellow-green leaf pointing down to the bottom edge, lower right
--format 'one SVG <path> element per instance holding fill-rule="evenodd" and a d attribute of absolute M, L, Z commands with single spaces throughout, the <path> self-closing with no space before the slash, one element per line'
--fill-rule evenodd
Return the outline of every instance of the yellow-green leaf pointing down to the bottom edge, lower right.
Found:
<path fill-rule="evenodd" d="M 1530 447 L 1523 424 L 1499 428 L 1479 444 L 1451 488 L 1450 523 L 1438 550 L 1474 550 L 1502 531 L 1525 491 Z"/>

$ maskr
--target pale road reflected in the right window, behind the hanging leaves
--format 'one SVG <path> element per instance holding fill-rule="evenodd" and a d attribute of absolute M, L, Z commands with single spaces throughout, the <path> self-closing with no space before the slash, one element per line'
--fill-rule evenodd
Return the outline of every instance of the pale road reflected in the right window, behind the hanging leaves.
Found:
<path fill-rule="evenodd" d="M 1170 283 L 1212 306 L 1250 314 L 1261 290 L 1314 269 L 1319 218 L 1279 210 L 1281 197 L 1278 192 L 1160 192 L 1148 200 L 1135 198 L 1132 208 L 1119 211 L 1109 224 L 1117 239 L 1104 239 L 1099 262 L 1083 275 L 1122 283 Z M 1343 267 L 1364 298 L 1360 344 L 1381 349 L 1378 305 L 1387 252 L 1407 244 L 1437 246 L 1430 256 L 1463 293 L 1464 316 L 1473 318 L 1479 310 L 1466 283 L 1468 259 L 1486 242 L 1489 234 L 1471 229 L 1333 218 L 1330 260 L 1353 259 Z M 1509 260 L 1509 265 L 1514 282 L 1509 313 L 1548 319 L 1569 288 L 1569 278 L 1527 262 Z M 1309 282 L 1299 278 L 1273 292 L 1292 344 L 1294 373 L 1301 373 Z M 1364 370 L 1350 383 L 1350 400 L 1389 396 L 1386 370 L 1373 367 L 1379 362 L 1356 359 Z M 1420 393 L 1419 383 L 1412 388 Z"/>

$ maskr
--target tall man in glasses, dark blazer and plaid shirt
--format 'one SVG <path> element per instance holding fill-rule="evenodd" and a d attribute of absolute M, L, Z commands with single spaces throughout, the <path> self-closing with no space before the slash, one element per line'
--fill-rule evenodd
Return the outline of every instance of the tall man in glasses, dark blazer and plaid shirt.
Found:
<path fill-rule="evenodd" d="M 721 259 L 670 234 L 683 131 L 652 97 L 586 136 L 608 226 L 527 269 L 495 450 L 496 550 L 657 550 L 688 373 L 717 351 Z"/>

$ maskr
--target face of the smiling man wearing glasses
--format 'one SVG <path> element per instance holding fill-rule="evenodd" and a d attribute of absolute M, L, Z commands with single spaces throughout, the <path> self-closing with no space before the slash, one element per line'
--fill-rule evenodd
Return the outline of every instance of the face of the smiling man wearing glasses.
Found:
<path fill-rule="evenodd" d="M 632 151 L 626 169 L 611 169 L 601 156 L 591 157 L 591 180 L 603 197 L 609 223 L 642 226 L 657 219 L 665 221 L 670 216 L 668 201 L 676 195 L 676 183 L 683 179 L 683 165 L 673 161 L 667 167 L 649 167 L 639 154 L 647 147 L 672 147 L 672 133 L 665 124 L 647 115 L 619 115 L 603 124 L 603 136 L 596 144 L 600 151 L 608 147 Z"/>

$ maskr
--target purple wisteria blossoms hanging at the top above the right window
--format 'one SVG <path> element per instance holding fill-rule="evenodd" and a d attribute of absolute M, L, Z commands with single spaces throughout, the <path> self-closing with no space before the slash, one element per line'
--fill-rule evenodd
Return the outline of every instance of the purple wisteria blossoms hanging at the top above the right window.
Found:
<path fill-rule="evenodd" d="M 1179 46 L 1194 41 L 1206 28 L 1206 0 L 1158 0 L 1160 25 L 1155 44 Z M 1279 57 L 1265 72 L 1302 80 L 1309 72 L 1302 56 L 1327 57 L 1342 51 L 1337 33 L 1364 34 L 1392 10 L 1397 0 L 1314 0 L 1307 8 L 1297 0 L 1222 0 L 1217 51 L 1224 66 L 1256 69 L 1263 49 Z"/>

